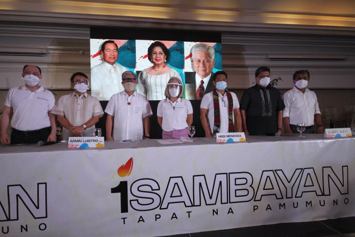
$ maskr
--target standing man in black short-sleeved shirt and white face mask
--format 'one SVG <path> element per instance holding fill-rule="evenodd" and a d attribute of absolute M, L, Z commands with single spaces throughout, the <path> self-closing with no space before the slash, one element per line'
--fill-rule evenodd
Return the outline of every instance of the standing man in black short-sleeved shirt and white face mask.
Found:
<path fill-rule="evenodd" d="M 278 89 L 270 85 L 270 68 L 259 67 L 256 85 L 246 89 L 240 100 L 245 135 L 275 135 L 282 132 L 284 101 Z"/>

